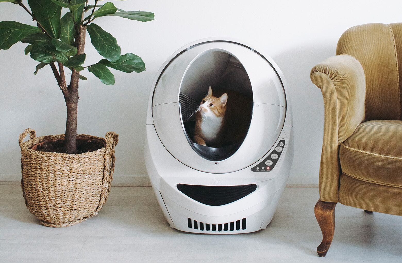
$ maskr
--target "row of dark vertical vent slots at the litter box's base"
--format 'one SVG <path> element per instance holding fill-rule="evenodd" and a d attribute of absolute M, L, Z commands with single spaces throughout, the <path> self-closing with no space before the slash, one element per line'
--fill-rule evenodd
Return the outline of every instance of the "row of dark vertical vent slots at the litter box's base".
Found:
<path fill-rule="evenodd" d="M 246 218 L 223 224 L 209 224 L 204 222 L 198 222 L 197 220 L 193 220 L 191 218 L 187 218 L 187 227 L 208 232 L 222 232 L 222 231 L 230 232 L 235 230 L 239 231 L 240 229 L 245 230 L 247 228 L 247 225 L 246 225 Z"/>

